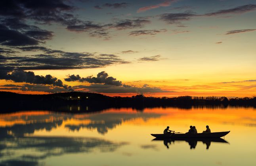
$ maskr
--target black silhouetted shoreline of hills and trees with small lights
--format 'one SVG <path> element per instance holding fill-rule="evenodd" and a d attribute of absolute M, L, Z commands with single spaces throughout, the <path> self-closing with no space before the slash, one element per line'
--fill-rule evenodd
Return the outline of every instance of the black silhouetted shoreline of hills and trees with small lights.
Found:
<path fill-rule="evenodd" d="M 142 94 L 132 97 L 110 97 L 98 93 L 63 92 L 54 94 L 18 94 L 13 92 L 0 92 L 0 113 L 22 110 L 49 110 L 60 112 L 94 112 L 108 108 L 143 108 L 178 107 L 183 109 L 201 107 L 228 106 L 256 108 L 256 96 L 248 98 L 226 97 L 145 97 Z"/>

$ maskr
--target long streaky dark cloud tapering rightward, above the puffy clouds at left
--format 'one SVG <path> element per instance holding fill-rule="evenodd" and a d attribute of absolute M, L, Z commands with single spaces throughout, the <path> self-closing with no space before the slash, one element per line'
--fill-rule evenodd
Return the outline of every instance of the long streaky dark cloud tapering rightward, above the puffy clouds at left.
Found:
<path fill-rule="evenodd" d="M 12 68 L 19 67 L 23 70 L 38 69 L 81 69 L 98 68 L 112 64 L 129 63 L 116 55 L 71 53 L 60 50 L 52 50 L 41 46 L 16 47 L 22 51 L 43 51 L 44 54 L 30 56 L 2 56 L 2 66 Z"/>

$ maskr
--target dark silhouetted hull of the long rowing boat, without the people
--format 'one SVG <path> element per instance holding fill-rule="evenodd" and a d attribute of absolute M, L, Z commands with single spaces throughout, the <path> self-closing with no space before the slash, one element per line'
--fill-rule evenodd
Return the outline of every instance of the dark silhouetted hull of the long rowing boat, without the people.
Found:
<path fill-rule="evenodd" d="M 220 138 L 227 135 L 229 132 L 230 131 L 197 133 L 197 134 L 167 133 L 167 134 L 151 134 L 151 136 L 154 136 L 156 138 Z"/>

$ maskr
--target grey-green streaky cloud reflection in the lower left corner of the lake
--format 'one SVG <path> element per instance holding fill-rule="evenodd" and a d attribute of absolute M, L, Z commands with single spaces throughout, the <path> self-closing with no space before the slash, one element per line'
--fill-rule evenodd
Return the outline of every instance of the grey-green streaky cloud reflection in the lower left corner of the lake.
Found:
<path fill-rule="evenodd" d="M 23 137 L 0 141 L 0 165 L 38 165 L 38 160 L 68 153 L 113 152 L 127 142 L 99 138 Z M 26 151 L 19 153 L 19 151 Z"/>

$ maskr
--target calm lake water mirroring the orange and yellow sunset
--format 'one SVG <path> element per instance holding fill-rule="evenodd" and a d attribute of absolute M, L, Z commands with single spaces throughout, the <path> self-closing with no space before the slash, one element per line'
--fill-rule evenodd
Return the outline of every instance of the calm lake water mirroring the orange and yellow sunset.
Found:
<path fill-rule="evenodd" d="M 166 126 L 229 131 L 223 142 L 153 141 Z M 156 166 L 256 163 L 256 109 L 106 109 L 0 114 L 0 165 Z M 169 147 L 169 148 L 168 148 Z M 208 149 L 207 149 L 208 148 Z"/>

